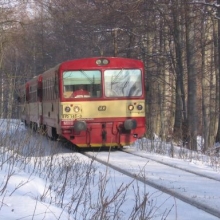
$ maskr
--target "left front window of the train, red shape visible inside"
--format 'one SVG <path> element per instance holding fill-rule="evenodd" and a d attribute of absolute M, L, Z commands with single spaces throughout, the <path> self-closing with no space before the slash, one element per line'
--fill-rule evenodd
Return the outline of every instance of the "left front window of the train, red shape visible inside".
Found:
<path fill-rule="evenodd" d="M 63 72 L 64 98 L 98 98 L 101 96 L 101 72 L 76 70 Z"/>

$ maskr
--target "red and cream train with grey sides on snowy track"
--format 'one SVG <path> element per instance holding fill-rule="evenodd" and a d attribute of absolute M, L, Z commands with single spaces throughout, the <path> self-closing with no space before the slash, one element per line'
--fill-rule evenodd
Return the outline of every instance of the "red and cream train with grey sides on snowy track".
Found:
<path fill-rule="evenodd" d="M 77 147 L 122 148 L 146 133 L 144 81 L 138 59 L 64 61 L 19 85 L 20 119 Z"/>

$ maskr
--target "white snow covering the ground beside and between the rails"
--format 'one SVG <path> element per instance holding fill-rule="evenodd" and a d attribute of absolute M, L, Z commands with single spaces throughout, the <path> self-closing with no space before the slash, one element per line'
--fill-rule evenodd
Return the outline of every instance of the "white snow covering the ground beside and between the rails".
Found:
<path fill-rule="evenodd" d="M 83 154 L 64 148 L 43 135 L 30 135 L 17 121 L 10 124 L 6 120 L 1 121 L 0 133 L 1 220 L 101 219 L 100 216 L 103 219 L 139 219 L 141 215 L 149 219 L 218 219 Z M 158 143 L 156 138 L 154 146 Z M 175 157 L 171 158 L 167 155 L 169 148 L 166 143 L 160 148 L 163 155 L 149 152 L 149 146 L 152 149 L 152 141 L 145 139 L 141 145 L 136 143 L 125 148 L 132 153 L 220 180 L 219 164 L 213 162 L 213 157 L 210 159 L 200 153 L 189 159 L 188 152 L 183 154 L 175 148 Z M 86 154 L 168 186 L 178 178 L 185 178 L 186 185 L 180 185 L 179 189 L 192 197 L 194 191 L 200 191 L 199 186 L 206 185 L 206 195 L 201 193 L 201 197 L 194 199 L 220 208 L 219 190 L 212 180 L 197 182 L 196 178 L 190 179 L 190 174 L 183 176 L 185 174 L 181 170 L 174 173 L 172 167 L 168 169 L 146 158 L 135 161 L 132 155 L 124 156 L 122 152 Z M 192 156 L 192 153 L 189 154 Z"/>

